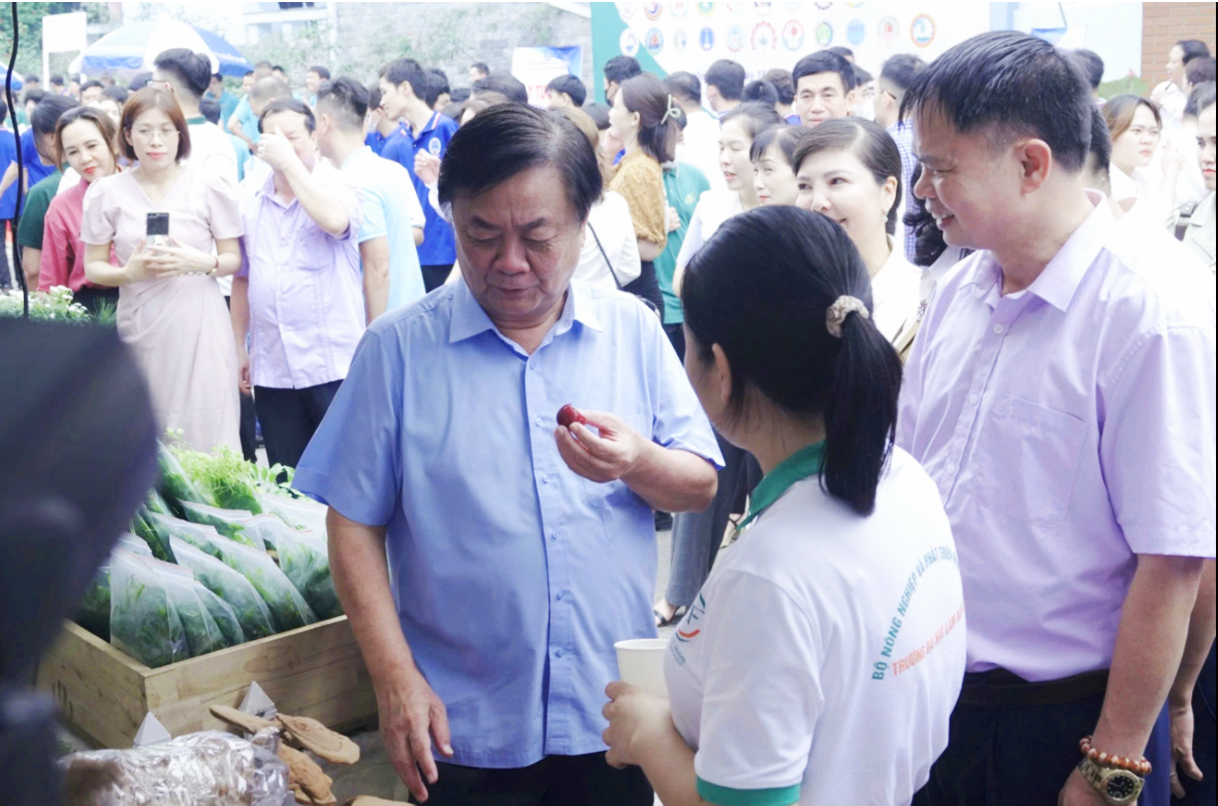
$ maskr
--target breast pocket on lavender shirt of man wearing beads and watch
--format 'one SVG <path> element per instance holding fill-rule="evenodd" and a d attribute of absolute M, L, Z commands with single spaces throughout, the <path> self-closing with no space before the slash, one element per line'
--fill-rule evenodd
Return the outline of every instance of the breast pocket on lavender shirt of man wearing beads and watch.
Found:
<path fill-rule="evenodd" d="M 1033 526 L 1052 527 L 1069 508 L 1086 424 L 1002 394 L 977 435 L 978 503 Z"/>

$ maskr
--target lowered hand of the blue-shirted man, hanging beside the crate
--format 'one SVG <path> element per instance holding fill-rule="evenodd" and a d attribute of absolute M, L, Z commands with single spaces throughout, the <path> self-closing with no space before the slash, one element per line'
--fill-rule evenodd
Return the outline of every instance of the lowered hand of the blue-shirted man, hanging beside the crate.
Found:
<path fill-rule="evenodd" d="M 428 800 L 428 784 L 440 779 L 436 748 L 446 757 L 453 755 L 448 734 L 448 711 L 417 670 L 392 685 L 376 692 L 380 733 L 398 777 L 420 804 Z"/>

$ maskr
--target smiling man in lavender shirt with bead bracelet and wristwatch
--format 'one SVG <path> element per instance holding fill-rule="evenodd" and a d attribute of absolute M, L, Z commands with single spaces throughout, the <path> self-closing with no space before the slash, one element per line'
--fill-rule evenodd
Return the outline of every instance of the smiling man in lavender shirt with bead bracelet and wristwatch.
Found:
<path fill-rule="evenodd" d="M 915 192 L 980 250 L 939 284 L 901 392 L 898 443 L 939 487 L 968 620 L 950 745 L 915 804 L 1132 802 L 1141 777 L 1079 745 L 1145 772 L 1214 555 L 1208 273 L 1085 189 L 1090 88 L 1049 43 L 974 37 L 903 107 Z"/>

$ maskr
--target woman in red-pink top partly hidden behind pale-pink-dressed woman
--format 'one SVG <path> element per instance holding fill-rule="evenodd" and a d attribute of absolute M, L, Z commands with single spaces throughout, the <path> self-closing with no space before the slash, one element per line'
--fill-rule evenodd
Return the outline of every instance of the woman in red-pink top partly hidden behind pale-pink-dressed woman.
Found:
<path fill-rule="evenodd" d="M 52 198 L 46 208 L 38 290 L 67 286 L 72 289 L 73 302 L 97 313 L 100 303 L 118 302 L 118 289 L 95 285 L 85 279 L 80 218 L 89 185 L 118 170 L 118 129 L 105 112 L 78 106 L 65 112 L 55 125 L 55 147 L 60 164 L 67 162 L 80 174 L 80 183 Z M 110 261 L 116 262 L 113 252 Z"/>

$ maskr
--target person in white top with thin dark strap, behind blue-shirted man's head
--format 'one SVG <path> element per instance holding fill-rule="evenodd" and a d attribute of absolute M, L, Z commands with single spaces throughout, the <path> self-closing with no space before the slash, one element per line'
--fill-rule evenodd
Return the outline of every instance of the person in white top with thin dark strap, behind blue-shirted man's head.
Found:
<path fill-rule="evenodd" d="M 642 272 L 638 240 L 635 237 L 635 224 L 630 218 L 630 205 L 621 194 L 608 190 L 611 169 L 598 147 L 600 131 L 588 113 L 574 107 L 561 107 L 551 110 L 551 114 L 565 117 L 588 139 L 600 162 L 600 175 L 605 186 L 600 201 L 588 212 L 586 237 L 583 248 L 580 250 L 580 263 L 575 267 L 574 279 L 597 289 L 620 289 L 638 278 Z"/>

